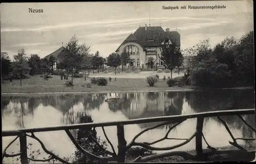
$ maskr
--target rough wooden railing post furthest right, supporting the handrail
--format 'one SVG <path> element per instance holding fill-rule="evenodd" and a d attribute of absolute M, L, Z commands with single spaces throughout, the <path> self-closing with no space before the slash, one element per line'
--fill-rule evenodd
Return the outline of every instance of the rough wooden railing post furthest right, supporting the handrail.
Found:
<path fill-rule="evenodd" d="M 197 127 L 196 127 L 196 152 L 197 157 L 200 159 L 203 155 L 203 146 L 202 146 L 202 133 L 203 133 L 203 123 L 204 118 L 197 118 Z"/>

